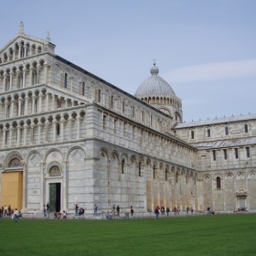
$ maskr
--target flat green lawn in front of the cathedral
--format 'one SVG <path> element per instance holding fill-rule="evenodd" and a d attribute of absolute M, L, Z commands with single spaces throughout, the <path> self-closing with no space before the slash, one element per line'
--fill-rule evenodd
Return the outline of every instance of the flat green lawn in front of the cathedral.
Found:
<path fill-rule="evenodd" d="M 0 255 L 256 255 L 256 215 L 2 219 Z"/>

